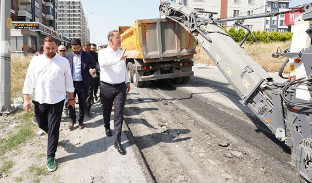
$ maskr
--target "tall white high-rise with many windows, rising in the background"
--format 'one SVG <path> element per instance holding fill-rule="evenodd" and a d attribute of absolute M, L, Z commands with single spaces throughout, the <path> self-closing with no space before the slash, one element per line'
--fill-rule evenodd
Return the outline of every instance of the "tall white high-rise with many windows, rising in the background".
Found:
<path fill-rule="evenodd" d="M 69 39 L 90 40 L 87 20 L 80 0 L 58 0 L 58 31 Z"/>

